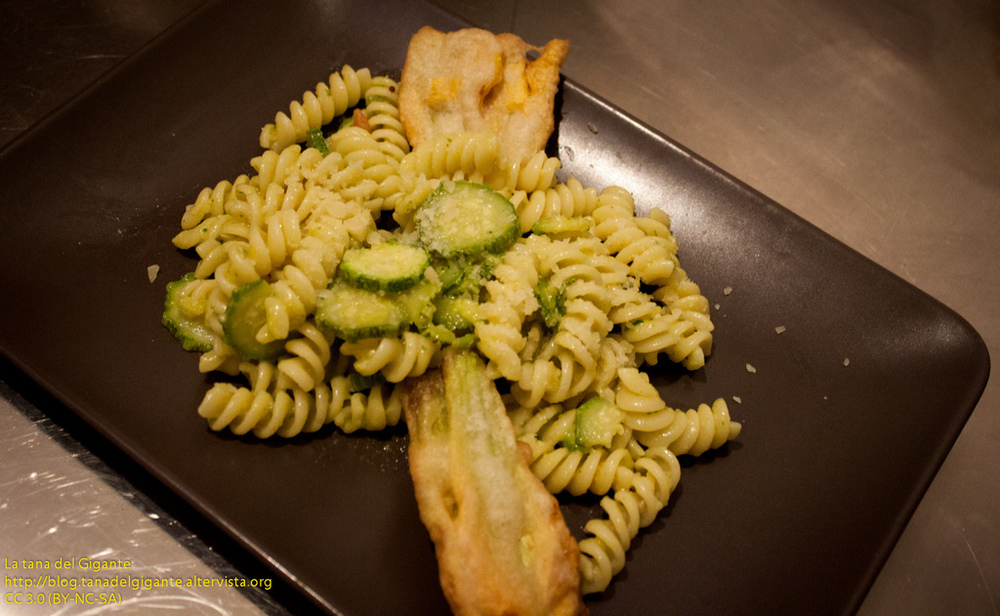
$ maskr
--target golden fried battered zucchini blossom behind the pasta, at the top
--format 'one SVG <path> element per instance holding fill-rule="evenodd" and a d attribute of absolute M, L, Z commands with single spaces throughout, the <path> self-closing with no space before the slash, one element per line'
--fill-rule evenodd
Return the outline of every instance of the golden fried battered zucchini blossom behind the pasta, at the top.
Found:
<path fill-rule="evenodd" d="M 526 54 L 537 52 L 528 60 Z M 406 54 L 399 109 L 410 144 L 448 133 L 491 131 L 512 158 L 545 148 L 569 42 L 535 47 L 515 34 L 421 28 Z"/>

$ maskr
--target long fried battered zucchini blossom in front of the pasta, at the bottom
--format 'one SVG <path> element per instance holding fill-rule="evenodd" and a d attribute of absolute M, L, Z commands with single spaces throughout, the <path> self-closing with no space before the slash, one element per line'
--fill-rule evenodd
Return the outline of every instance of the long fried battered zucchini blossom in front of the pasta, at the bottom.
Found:
<path fill-rule="evenodd" d="M 450 352 L 408 381 L 410 473 L 458 615 L 585 615 L 579 549 L 517 446 L 482 360 Z"/>

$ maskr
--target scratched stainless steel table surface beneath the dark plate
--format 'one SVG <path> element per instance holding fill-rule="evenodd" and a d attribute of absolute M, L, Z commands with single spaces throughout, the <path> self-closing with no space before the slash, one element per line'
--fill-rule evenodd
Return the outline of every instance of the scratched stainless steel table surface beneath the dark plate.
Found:
<path fill-rule="evenodd" d="M 0 145 L 197 4 L 0 5 Z M 1000 348 L 997 3 L 440 4 L 529 41 L 570 39 L 566 75 L 941 300 L 991 351 Z M 1000 613 L 995 381 L 862 614 Z M 232 562 L 225 542 L 199 532 L 195 518 L 178 520 L 183 507 L 71 419 L 53 421 L 49 404 L 44 392 L 0 364 L 0 558 L 94 554 L 205 579 L 262 571 Z M 197 614 L 302 609 L 277 587 L 150 589 L 128 607 Z M 81 605 L 60 611 L 0 603 L 4 611 L 96 613 Z"/>

